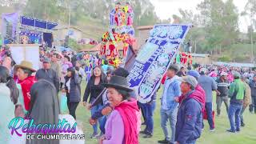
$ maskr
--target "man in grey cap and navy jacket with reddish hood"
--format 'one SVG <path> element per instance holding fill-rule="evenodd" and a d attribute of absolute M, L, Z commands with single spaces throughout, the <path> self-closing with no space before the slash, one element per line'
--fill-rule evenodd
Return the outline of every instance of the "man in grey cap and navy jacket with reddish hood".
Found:
<path fill-rule="evenodd" d="M 195 90 L 198 86 L 197 80 L 187 75 L 182 78 L 181 90 L 182 100 L 178 108 L 175 141 L 179 144 L 195 143 L 201 136 L 202 132 L 202 104 L 198 97 L 202 93 Z"/>

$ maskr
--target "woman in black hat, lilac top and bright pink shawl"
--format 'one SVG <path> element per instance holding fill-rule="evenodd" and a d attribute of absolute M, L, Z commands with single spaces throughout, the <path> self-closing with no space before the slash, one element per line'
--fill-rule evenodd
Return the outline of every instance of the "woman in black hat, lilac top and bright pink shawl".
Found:
<path fill-rule="evenodd" d="M 106 121 L 106 133 L 100 138 L 100 144 L 138 144 L 140 130 L 140 111 L 137 101 L 130 98 L 127 79 L 112 76 L 105 84 L 108 90 L 112 113 Z"/>

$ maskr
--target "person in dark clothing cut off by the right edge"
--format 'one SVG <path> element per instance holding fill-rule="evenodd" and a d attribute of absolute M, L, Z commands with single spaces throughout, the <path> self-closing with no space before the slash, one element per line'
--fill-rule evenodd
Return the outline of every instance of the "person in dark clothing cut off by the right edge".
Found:
<path fill-rule="evenodd" d="M 250 113 L 256 114 L 256 74 L 254 74 L 253 80 L 250 81 L 250 90 L 251 90 L 251 105 Z"/>

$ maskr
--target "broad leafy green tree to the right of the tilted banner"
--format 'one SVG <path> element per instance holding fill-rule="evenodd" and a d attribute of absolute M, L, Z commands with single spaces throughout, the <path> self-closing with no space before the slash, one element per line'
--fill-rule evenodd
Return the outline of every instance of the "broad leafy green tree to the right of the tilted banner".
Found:
<path fill-rule="evenodd" d="M 204 20 L 206 50 L 228 46 L 238 37 L 238 10 L 233 0 L 204 0 L 197 7 Z"/>

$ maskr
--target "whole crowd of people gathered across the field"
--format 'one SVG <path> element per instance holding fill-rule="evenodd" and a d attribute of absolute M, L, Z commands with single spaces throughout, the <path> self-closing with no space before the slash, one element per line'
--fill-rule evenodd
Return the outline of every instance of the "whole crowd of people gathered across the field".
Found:
<path fill-rule="evenodd" d="M 93 132 L 90 138 L 98 138 L 100 143 L 135 144 L 139 134 L 143 134 L 143 138 L 153 136 L 157 91 L 150 102 L 138 102 L 126 79 L 129 71 L 122 68 L 120 62 L 99 58 L 98 54 L 58 52 L 43 46 L 40 59 L 40 69 L 34 70 L 31 62 L 16 64 L 10 51 L 1 49 L 0 96 L 4 99 L 1 106 L 6 119 L 1 122 L 0 142 L 14 141 L 7 127 L 14 117 L 34 118 L 36 123 L 56 123 L 58 118 L 67 117 L 75 122 L 81 101 L 91 112 L 89 122 Z M 214 132 L 218 128 L 214 123 L 215 115 L 222 114 L 222 102 L 230 120 L 227 130 L 230 133 L 246 126 L 242 114 L 247 106 L 250 106 L 250 113 L 256 114 L 255 70 L 213 65 L 194 65 L 191 69 L 171 64 L 162 78 L 159 114 L 164 139 L 159 143 L 195 143 L 204 129 L 203 119 L 207 119 L 210 132 Z M 82 82 L 86 82 L 84 92 Z M 213 110 L 213 91 L 217 114 Z M 59 93 L 65 94 L 70 115 L 60 113 Z M 141 125 L 146 128 L 141 130 Z M 79 129 L 78 134 L 82 134 Z"/>

